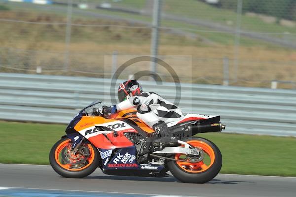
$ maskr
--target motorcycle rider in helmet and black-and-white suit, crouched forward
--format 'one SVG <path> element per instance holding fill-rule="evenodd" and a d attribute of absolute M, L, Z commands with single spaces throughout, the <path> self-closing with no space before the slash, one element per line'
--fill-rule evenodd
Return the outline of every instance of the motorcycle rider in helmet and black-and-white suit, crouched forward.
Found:
<path fill-rule="evenodd" d="M 97 109 L 97 113 L 114 114 L 121 110 L 136 108 L 137 117 L 160 136 L 153 141 L 154 146 L 177 143 L 176 138 L 168 137 L 170 130 L 166 124 L 184 118 L 182 111 L 176 105 L 156 93 L 143 92 L 141 85 L 136 80 L 125 81 L 119 85 L 118 99 L 120 103 L 110 107 L 103 106 Z"/>

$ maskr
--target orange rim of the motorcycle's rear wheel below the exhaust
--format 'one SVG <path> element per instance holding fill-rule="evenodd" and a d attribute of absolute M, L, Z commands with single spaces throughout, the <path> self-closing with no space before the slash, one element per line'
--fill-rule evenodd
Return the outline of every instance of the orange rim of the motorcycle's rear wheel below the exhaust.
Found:
<path fill-rule="evenodd" d="M 207 155 L 208 158 L 209 158 L 209 163 L 208 164 L 205 164 L 204 163 L 204 160 L 200 161 L 200 162 L 181 162 L 181 161 L 176 161 L 177 165 L 184 171 L 186 172 L 190 172 L 190 173 L 201 173 L 201 172 L 204 172 L 206 171 L 207 169 L 209 169 L 213 163 L 214 163 L 214 160 L 215 160 L 215 152 L 213 150 L 213 148 L 203 142 L 203 141 L 198 141 L 198 140 L 192 140 L 192 141 L 188 141 L 186 142 L 188 144 L 190 144 L 191 146 L 195 147 L 195 148 L 200 148 L 204 151 L 205 153 L 205 156 Z M 183 154 L 176 154 L 175 155 L 175 159 L 176 160 L 180 160 L 182 158 L 182 156 L 185 156 Z M 183 159 L 184 160 L 184 159 Z M 190 161 L 189 159 L 187 159 L 187 161 Z"/>

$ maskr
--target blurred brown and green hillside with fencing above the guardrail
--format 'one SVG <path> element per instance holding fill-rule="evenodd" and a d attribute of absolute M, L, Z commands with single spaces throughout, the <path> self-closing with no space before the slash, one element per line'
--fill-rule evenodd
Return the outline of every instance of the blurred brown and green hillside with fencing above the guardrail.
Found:
<path fill-rule="evenodd" d="M 111 78 L 104 55 L 157 47 L 189 83 L 295 88 L 295 0 L 157 3 L 153 45 L 153 0 L 0 0 L 0 72 Z"/>

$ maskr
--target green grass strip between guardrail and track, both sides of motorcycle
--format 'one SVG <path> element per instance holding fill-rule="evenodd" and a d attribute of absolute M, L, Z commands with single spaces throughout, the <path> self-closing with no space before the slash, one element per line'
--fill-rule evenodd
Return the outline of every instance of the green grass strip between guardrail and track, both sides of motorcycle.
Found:
<path fill-rule="evenodd" d="M 65 125 L 0 122 L 0 163 L 49 164 Z M 296 176 L 296 138 L 207 133 L 223 157 L 222 173 Z"/>

